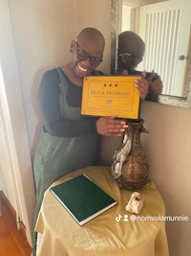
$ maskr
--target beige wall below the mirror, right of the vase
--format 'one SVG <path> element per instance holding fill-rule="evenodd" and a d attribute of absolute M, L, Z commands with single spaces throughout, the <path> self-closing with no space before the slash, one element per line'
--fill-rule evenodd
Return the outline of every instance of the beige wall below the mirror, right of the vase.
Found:
<path fill-rule="evenodd" d="M 166 222 L 170 256 L 191 254 L 191 109 L 144 103 L 142 118 L 150 133 L 143 146 L 150 176 L 159 187 L 168 216 L 189 221 Z"/>

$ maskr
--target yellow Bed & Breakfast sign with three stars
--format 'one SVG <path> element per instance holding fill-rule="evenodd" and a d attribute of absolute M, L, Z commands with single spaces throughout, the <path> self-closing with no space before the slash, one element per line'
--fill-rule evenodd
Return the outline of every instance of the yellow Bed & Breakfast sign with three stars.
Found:
<path fill-rule="evenodd" d="M 138 76 L 85 77 L 81 114 L 138 119 L 137 79 Z"/>

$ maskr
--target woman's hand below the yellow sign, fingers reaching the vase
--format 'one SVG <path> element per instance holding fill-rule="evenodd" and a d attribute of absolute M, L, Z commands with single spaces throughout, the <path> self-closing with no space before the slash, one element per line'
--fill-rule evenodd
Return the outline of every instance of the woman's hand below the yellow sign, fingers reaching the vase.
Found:
<path fill-rule="evenodd" d="M 121 136 L 127 127 L 123 120 L 115 119 L 114 116 L 100 117 L 96 121 L 98 134 L 105 136 Z"/>

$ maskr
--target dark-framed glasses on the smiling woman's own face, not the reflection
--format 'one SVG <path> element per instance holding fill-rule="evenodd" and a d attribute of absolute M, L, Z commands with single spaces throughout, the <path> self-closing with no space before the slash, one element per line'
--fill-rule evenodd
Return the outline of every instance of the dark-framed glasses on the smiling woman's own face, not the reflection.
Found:
<path fill-rule="evenodd" d="M 89 59 L 91 65 L 94 65 L 94 66 L 100 64 L 100 62 L 102 61 L 102 58 L 89 56 L 83 49 L 79 47 L 79 44 L 76 39 L 75 39 L 75 43 L 76 43 L 76 56 L 79 60 L 83 61 L 83 60 Z"/>

